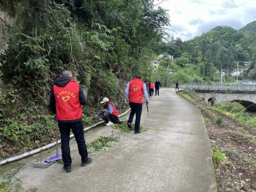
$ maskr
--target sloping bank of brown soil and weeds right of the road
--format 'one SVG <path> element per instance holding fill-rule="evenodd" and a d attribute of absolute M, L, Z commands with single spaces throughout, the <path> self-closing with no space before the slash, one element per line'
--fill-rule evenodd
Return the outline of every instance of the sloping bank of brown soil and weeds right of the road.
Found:
<path fill-rule="evenodd" d="M 195 104 L 204 116 L 214 154 L 218 191 L 255 191 L 254 116 L 236 103 L 210 107 L 193 92 L 182 90 L 178 94 Z"/>

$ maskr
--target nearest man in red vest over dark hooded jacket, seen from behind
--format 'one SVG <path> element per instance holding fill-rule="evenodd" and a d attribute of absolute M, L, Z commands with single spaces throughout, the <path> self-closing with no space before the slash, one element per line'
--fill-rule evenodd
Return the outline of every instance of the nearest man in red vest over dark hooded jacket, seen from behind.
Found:
<path fill-rule="evenodd" d="M 70 129 L 76 138 L 77 147 L 81 156 L 81 166 L 92 163 L 88 157 L 86 143 L 84 141 L 82 107 L 87 100 L 83 88 L 72 79 L 72 72 L 65 70 L 61 77 L 54 83 L 50 96 L 50 107 L 56 115 L 61 134 L 61 152 L 64 162 L 64 170 L 71 172 L 72 159 L 70 157 Z"/>

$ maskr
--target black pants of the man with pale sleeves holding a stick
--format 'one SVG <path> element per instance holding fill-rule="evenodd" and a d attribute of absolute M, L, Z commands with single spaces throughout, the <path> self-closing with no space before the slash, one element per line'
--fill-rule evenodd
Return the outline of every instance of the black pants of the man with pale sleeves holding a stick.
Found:
<path fill-rule="evenodd" d="M 134 131 L 140 131 L 140 117 L 141 117 L 141 111 L 142 111 L 142 104 L 130 102 L 130 107 L 131 107 L 131 113 L 130 113 L 128 122 L 132 123 L 133 117 L 136 114 Z"/>

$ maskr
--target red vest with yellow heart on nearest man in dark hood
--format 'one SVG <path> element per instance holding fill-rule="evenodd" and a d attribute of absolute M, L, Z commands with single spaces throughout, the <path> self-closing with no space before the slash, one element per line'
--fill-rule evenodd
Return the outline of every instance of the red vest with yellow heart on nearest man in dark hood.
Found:
<path fill-rule="evenodd" d="M 58 120 L 68 121 L 82 118 L 82 107 L 79 102 L 79 83 L 74 79 L 63 87 L 54 84 L 54 96 Z"/>

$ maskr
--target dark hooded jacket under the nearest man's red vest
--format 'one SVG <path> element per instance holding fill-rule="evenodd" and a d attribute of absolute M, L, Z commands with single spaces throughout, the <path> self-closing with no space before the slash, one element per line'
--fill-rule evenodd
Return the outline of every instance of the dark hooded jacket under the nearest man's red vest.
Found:
<path fill-rule="evenodd" d="M 72 81 L 71 77 L 68 76 L 62 76 L 60 77 L 54 84 L 56 86 L 64 87 L 66 86 L 70 81 Z M 74 81 L 74 80 L 73 80 Z M 56 98 L 54 96 L 54 84 L 52 85 L 52 90 L 51 90 L 51 96 L 50 96 L 50 108 L 52 110 L 52 113 L 56 114 Z M 86 97 L 84 96 L 83 88 L 79 84 L 79 102 L 81 105 L 84 105 L 87 103 Z M 70 122 L 70 121 L 69 121 Z M 72 122 L 72 121 L 71 121 Z"/>

